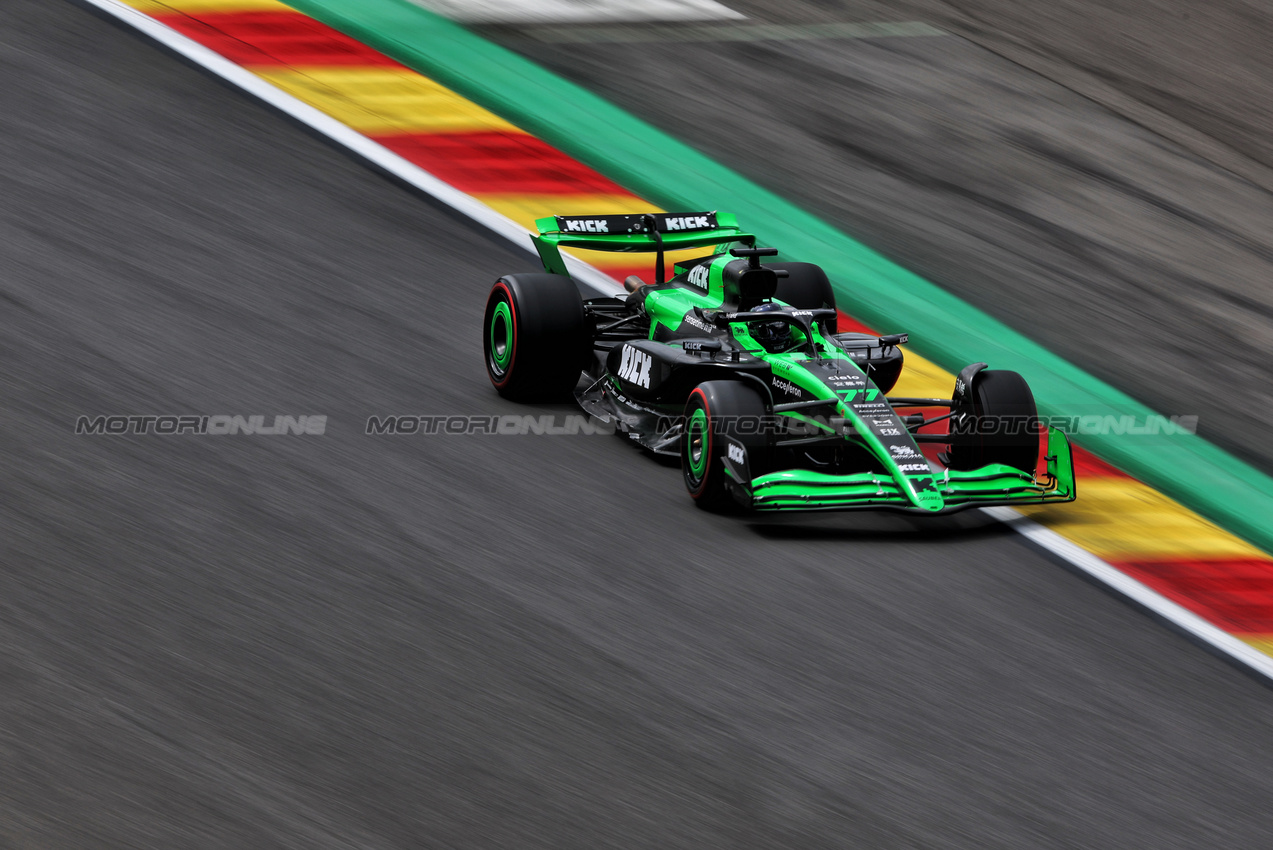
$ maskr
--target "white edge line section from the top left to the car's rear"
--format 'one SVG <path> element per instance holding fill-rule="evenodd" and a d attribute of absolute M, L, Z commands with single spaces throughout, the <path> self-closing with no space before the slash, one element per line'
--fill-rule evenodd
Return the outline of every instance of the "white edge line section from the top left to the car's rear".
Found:
<path fill-rule="evenodd" d="M 398 179 L 414 186 L 421 192 L 426 192 L 438 199 L 453 210 L 467 215 L 479 224 L 494 230 L 518 248 L 531 252 L 536 257 L 531 244 L 530 232 L 513 219 L 496 212 L 471 195 L 461 192 L 454 186 L 444 183 L 419 165 L 398 157 L 383 145 L 379 145 L 363 134 L 350 129 L 348 125 L 336 121 L 331 116 L 314 107 L 297 99 L 286 92 L 266 83 L 256 74 L 252 74 L 241 65 L 236 65 L 220 53 L 204 47 L 196 41 L 182 36 L 177 31 L 167 27 L 154 18 L 137 11 L 136 9 L 120 3 L 120 0 L 81 0 L 102 11 L 118 18 L 126 24 L 135 27 L 164 47 L 181 53 L 190 61 L 216 74 L 228 83 L 233 83 L 248 94 L 265 101 L 270 106 L 292 116 L 297 121 L 323 134 L 363 159 L 373 163 L 378 168 L 393 174 Z M 586 284 L 600 294 L 612 295 L 622 293 L 622 288 L 614 277 L 600 268 L 589 266 L 578 257 L 563 252 L 565 265 L 570 270 L 570 276 Z"/>

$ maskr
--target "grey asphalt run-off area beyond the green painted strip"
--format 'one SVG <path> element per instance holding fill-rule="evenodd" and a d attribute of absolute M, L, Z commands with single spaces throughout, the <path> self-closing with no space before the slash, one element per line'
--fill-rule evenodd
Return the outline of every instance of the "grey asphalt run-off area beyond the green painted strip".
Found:
<path fill-rule="evenodd" d="M 755 23 L 952 34 L 485 32 L 1273 472 L 1273 15 L 1227 1 L 728 5 Z"/>

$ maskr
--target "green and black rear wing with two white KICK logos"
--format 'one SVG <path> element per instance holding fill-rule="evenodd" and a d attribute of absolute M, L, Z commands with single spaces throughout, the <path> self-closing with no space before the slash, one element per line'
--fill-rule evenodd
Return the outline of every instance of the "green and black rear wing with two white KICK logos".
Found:
<path fill-rule="evenodd" d="M 663 252 L 732 242 L 756 244 L 728 212 L 642 212 L 631 215 L 550 215 L 535 221 L 531 237 L 545 271 L 568 275 L 561 248 L 657 252 L 658 281 L 663 280 Z"/>

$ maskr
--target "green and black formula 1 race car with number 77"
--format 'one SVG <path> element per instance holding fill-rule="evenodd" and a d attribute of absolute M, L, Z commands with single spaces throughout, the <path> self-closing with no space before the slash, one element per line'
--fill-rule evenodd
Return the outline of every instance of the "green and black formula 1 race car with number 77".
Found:
<path fill-rule="evenodd" d="M 826 274 L 763 262 L 778 251 L 757 247 L 732 215 L 550 216 L 536 225 L 546 274 L 500 277 L 486 302 L 491 383 L 519 401 L 573 391 L 584 411 L 643 448 L 679 454 L 699 505 L 938 513 L 1074 499 L 1069 443 L 1041 431 L 1021 375 L 976 363 L 951 398 L 887 396 L 906 336 L 838 333 Z M 665 280 L 666 251 L 709 246 Z M 653 252 L 656 280 L 587 298 L 563 247 Z M 905 412 L 934 408 L 948 412 Z M 942 449 L 932 459 L 920 449 L 929 443 Z"/>

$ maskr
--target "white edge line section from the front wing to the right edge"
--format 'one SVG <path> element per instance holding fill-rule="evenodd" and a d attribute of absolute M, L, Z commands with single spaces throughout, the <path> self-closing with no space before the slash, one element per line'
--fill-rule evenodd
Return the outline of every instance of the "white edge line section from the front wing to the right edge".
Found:
<path fill-rule="evenodd" d="M 1053 555 L 1069 561 L 1114 592 L 1120 593 L 1132 602 L 1180 627 L 1197 640 L 1230 655 L 1256 673 L 1273 679 L 1273 657 L 1265 655 L 1254 646 L 1234 638 L 1227 631 L 1213 626 L 1188 608 L 1176 604 L 1157 590 L 1119 571 L 1106 561 L 1072 543 L 1050 528 L 1045 528 L 1035 520 L 1023 517 L 1017 510 L 1012 508 L 983 508 L 981 510 L 1007 524 L 1036 546 L 1041 546 Z"/>

